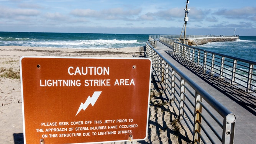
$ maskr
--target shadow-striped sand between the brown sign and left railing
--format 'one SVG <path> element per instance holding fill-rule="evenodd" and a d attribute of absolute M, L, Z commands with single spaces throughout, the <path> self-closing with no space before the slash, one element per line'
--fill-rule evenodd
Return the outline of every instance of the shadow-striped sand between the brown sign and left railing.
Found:
<path fill-rule="evenodd" d="M 174 108 L 166 100 L 157 74 L 152 71 L 151 94 L 149 102 L 148 136 L 139 144 L 190 144 L 192 137 L 185 131 L 174 112 Z"/>

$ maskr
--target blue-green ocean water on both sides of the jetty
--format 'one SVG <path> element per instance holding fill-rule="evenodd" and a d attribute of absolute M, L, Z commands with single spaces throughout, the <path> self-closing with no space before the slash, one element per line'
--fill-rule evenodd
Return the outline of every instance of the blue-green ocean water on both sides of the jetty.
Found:
<path fill-rule="evenodd" d="M 33 46 L 70 49 L 107 49 L 145 46 L 149 34 L 0 32 L 0 46 Z M 195 46 L 228 56 L 256 61 L 256 36 L 238 41 Z"/>

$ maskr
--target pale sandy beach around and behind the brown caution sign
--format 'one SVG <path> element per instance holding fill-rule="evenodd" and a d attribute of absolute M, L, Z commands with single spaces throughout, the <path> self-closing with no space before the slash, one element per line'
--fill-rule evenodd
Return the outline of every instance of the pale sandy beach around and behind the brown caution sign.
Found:
<path fill-rule="evenodd" d="M 7 70 L 19 75 L 21 56 L 68 57 L 140 57 L 139 47 L 120 49 L 62 49 L 46 47 L 0 47 L 0 143 L 23 144 L 23 121 L 20 79 L 3 74 Z M 154 74 L 153 74 L 154 77 Z M 161 100 L 161 90 L 152 79 L 148 138 L 141 144 L 186 144 L 185 132 L 174 119 L 169 103 Z M 114 142 L 113 142 L 114 143 Z M 115 142 L 115 144 L 118 142 Z M 124 143 L 124 142 L 119 142 Z"/>

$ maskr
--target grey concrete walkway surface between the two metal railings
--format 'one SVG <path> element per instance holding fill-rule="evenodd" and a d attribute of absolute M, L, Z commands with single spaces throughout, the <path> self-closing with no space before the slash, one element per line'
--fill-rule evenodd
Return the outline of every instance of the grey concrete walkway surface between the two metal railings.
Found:
<path fill-rule="evenodd" d="M 185 75 L 212 95 L 236 116 L 235 144 L 255 144 L 256 142 L 256 96 L 236 85 L 214 75 L 207 74 L 201 67 L 190 63 L 173 52 L 171 48 L 157 41 L 155 48 L 162 56 Z M 184 123 L 184 120 L 180 120 Z M 185 126 L 185 125 L 184 125 Z"/>

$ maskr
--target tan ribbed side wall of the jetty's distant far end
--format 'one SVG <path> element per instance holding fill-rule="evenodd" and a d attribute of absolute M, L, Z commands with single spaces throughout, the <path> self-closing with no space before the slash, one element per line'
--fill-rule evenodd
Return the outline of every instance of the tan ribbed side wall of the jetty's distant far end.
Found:
<path fill-rule="evenodd" d="M 202 38 L 188 38 L 187 42 L 189 46 L 197 46 L 200 44 L 207 44 L 211 42 L 223 42 L 223 41 L 237 41 L 239 36 L 232 37 L 202 37 Z"/>

